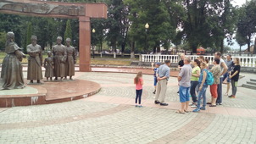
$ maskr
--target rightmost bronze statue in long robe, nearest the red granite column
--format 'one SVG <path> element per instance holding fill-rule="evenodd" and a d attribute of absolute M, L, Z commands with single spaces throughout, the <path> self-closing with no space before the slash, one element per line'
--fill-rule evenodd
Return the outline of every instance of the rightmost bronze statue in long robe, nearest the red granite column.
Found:
<path fill-rule="evenodd" d="M 72 80 L 72 76 L 75 75 L 76 52 L 75 47 L 70 46 L 70 41 L 70 38 L 66 39 L 67 61 L 65 64 L 65 79 L 67 79 L 67 76 L 70 76 L 70 80 Z"/>

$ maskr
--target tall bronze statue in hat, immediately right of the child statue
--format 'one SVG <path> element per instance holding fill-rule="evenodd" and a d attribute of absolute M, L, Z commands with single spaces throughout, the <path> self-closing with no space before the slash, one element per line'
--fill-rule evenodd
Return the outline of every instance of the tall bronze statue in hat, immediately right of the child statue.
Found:
<path fill-rule="evenodd" d="M 58 77 L 60 77 L 60 80 L 62 80 L 65 75 L 65 63 L 67 58 L 67 52 L 64 45 L 61 44 L 62 37 L 57 37 L 57 45 L 53 46 L 53 63 L 54 63 L 54 76 L 55 80 L 58 80 Z"/>

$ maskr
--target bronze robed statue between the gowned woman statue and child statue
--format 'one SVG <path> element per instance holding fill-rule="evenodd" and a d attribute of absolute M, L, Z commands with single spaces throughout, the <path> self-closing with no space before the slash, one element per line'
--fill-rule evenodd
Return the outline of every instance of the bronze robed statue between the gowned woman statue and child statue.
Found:
<path fill-rule="evenodd" d="M 28 73 L 27 80 L 37 80 L 38 84 L 41 84 L 42 80 L 42 47 L 36 44 L 37 37 L 31 36 L 31 44 L 26 47 L 27 53 L 30 55 L 28 58 Z"/>

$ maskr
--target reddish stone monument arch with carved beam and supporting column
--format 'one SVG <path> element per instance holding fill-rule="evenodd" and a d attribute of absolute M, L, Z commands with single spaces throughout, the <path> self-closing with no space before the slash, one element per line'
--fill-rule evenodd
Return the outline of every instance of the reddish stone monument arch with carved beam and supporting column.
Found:
<path fill-rule="evenodd" d="M 2 0 L 0 13 L 79 19 L 79 68 L 91 71 L 91 18 L 106 19 L 105 3 L 61 3 L 41 0 Z"/>

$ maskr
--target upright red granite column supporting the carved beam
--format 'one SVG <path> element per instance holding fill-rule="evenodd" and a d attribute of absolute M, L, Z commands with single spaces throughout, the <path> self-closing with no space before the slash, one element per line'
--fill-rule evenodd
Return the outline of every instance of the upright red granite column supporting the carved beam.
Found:
<path fill-rule="evenodd" d="M 89 17 L 79 18 L 79 69 L 91 71 L 91 22 Z"/>

